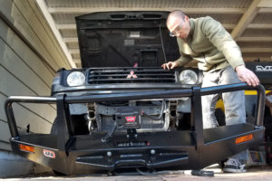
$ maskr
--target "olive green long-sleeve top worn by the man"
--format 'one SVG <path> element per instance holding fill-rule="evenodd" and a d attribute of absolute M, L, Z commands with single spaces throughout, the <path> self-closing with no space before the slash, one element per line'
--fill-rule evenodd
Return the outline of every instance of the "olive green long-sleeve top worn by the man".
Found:
<path fill-rule="evenodd" d="M 225 28 L 206 16 L 189 19 L 190 32 L 186 41 L 177 38 L 180 48 L 179 66 L 197 60 L 202 71 L 214 71 L 227 67 L 235 69 L 245 65 L 238 44 Z"/>

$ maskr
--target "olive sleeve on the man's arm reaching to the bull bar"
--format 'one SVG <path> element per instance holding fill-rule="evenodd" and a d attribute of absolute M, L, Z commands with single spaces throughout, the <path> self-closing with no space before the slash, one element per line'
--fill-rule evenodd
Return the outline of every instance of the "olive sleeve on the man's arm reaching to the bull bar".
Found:
<path fill-rule="evenodd" d="M 201 29 L 209 39 L 209 42 L 225 55 L 228 63 L 234 70 L 238 65 L 245 65 L 238 44 L 232 39 L 232 36 L 222 24 L 211 17 L 206 17 Z"/>

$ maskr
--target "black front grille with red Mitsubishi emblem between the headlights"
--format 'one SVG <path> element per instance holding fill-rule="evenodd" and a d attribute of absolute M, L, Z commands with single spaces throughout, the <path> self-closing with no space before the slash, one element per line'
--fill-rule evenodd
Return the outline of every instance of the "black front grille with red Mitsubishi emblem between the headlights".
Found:
<path fill-rule="evenodd" d="M 111 83 L 174 83 L 175 71 L 161 68 L 93 68 L 89 70 L 89 84 Z"/>

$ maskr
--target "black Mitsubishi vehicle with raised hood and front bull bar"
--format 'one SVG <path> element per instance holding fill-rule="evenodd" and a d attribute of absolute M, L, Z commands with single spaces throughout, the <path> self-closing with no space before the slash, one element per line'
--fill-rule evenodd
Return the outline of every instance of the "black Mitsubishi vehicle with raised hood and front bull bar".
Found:
<path fill-rule="evenodd" d="M 200 88 L 194 68 L 166 71 L 179 56 L 167 12 L 76 17 L 82 69 L 60 70 L 51 97 L 5 102 L 15 153 L 63 174 L 126 168 L 200 169 L 263 140 L 265 90 L 245 83 Z M 257 90 L 253 124 L 204 129 L 201 96 Z M 19 134 L 13 102 L 56 103 L 51 134 Z"/>

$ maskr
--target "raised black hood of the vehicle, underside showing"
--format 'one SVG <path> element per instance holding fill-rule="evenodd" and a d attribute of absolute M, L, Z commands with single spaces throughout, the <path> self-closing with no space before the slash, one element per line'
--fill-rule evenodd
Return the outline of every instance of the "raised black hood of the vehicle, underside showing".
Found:
<path fill-rule="evenodd" d="M 106 12 L 77 16 L 83 68 L 156 67 L 180 52 L 166 27 L 168 12 Z"/>

